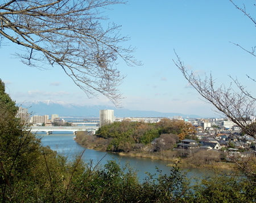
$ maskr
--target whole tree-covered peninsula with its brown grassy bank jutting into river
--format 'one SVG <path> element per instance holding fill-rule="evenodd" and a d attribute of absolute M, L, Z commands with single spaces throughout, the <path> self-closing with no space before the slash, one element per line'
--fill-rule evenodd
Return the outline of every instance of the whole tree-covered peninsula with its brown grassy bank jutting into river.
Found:
<path fill-rule="evenodd" d="M 183 120 L 162 119 L 157 123 L 123 120 L 101 126 L 95 135 L 77 132 L 80 145 L 101 151 L 119 153 L 129 157 L 170 160 L 171 165 L 180 160 L 184 168 L 233 169 L 226 162 L 223 151 L 177 148 L 183 139 L 197 139 L 193 125 Z"/>

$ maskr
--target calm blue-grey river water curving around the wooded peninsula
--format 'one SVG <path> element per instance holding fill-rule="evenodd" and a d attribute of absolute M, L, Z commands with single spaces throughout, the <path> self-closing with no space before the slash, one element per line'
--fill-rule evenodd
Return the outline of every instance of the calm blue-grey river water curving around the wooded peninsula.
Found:
<path fill-rule="evenodd" d="M 73 134 L 61 134 L 54 132 L 53 134 L 46 136 L 46 134 L 37 134 L 38 137 L 41 138 L 43 146 L 49 146 L 52 150 L 57 151 L 58 153 L 65 155 L 69 160 L 74 159 L 77 155 L 81 154 L 84 151 L 84 147 L 80 146 L 73 140 Z M 158 174 L 156 168 L 162 170 L 163 174 L 170 174 L 170 168 L 166 166 L 168 161 L 164 160 L 153 160 L 148 158 L 134 158 L 134 157 L 122 157 L 118 154 L 107 153 L 104 151 L 96 151 L 85 149 L 84 155 L 82 156 L 82 160 L 86 163 L 92 162 L 97 164 L 100 161 L 100 166 L 104 166 L 108 162 L 108 160 L 115 160 L 119 164 L 119 166 L 126 168 L 130 166 L 133 168 L 135 172 L 137 172 L 138 179 L 142 181 L 147 175 L 147 172 L 151 174 Z M 199 178 L 212 175 L 213 172 L 209 170 L 196 169 L 192 168 L 190 170 L 184 170 L 187 172 L 188 178 Z"/>

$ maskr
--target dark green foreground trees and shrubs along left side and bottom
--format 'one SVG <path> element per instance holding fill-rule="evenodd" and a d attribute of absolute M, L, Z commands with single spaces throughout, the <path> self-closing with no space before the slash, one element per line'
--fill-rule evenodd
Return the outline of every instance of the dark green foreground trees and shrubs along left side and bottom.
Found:
<path fill-rule="evenodd" d="M 30 133 L 29 126 L 16 118 L 18 108 L 5 93 L 2 82 L 0 107 L 1 202 L 255 201 L 255 179 L 252 177 L 237 179 L 220 175 L 191 186 L 177 163 L 170 169 L 170 175 L 159 171 L 159 176 L 149 174 L 139 182 L 133 170 L 120 168 L 112 161 L 96 167 L 99 163 L 83 163 L 81 154 L 68 162 L 65 157 L 40 145 L 40 140 Z M 122 123 L 115 125 L 122 126 L 124 132 L 128 129 Z M 129 125 L 146 126 L 134 122 Z M 148 131 L 158 129 L 154 125 L 145 128 Z"/>

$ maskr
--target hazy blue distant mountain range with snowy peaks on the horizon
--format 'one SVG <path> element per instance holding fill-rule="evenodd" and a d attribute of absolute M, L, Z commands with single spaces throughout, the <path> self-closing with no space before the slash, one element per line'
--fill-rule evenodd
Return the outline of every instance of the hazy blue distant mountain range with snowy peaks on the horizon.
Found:
<path fill-rule="evenodd" d="M 20 105 L 20 104 L 19 104 Z M 30 102 L 21 104 L 28 108 L 32 115 L 52 115 L 58 114 L 60 117 L 99 117 L 100 109 L 113 109 L 115 117 L 173 117 L 182 116 L 183 118 L 198 118 L 198 115 L 184 115 L 182 113 L 163 113 L 157 111 L 137 111 L 126 108 L 115 108 L 106 105 L 74 105 L 46 102 Z"/>

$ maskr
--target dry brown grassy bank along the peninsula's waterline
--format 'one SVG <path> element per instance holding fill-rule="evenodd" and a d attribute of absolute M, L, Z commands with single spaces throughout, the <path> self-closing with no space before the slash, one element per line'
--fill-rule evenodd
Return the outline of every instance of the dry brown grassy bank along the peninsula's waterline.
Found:
<path fill-rule="evenodd" d="M 98 151 L 108 151 L 109 140 L 98 138 L 96 136 L 78 136 L 76 142 L 87 149 L 94 149 Z M 117 152 L 115 152 L 117 153 Z M 220 170 L 233 170 L 234 163 L 224 162 L 224 155 L 220 151 L 215 150 L 195 150 L 188 151 L 183 154 L 179 150 L 164 150 L 152 151 L 150 145 L 141 150 L 133 150 L 129 152 L 118 152 L 120 156 L 124 157 L 137 157 L 148 158 L 156 160 L 167 160 L 173 166 L 177 159 L 180 159 L 180 167 L 182 168 L 208 168 Z M 183 157 L 183 158 L 180 158 Z"/>

